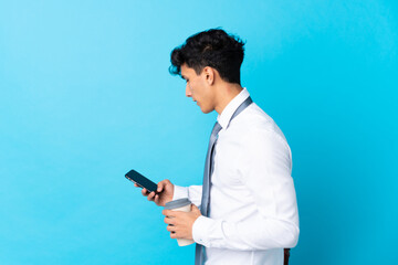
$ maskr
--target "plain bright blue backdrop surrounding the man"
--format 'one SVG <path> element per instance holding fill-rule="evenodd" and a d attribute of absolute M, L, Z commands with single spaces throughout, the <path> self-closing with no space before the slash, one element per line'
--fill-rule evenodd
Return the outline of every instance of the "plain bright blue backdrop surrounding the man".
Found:
<path fill-rule="evenodd" d="M 124 178 L 201 183 L 216 113 L 168 73 L 222 26 L 293 152 L 291 264 L 398 264 L 396 1 L 0 1 L 0 264 L 192 264 Z"/>

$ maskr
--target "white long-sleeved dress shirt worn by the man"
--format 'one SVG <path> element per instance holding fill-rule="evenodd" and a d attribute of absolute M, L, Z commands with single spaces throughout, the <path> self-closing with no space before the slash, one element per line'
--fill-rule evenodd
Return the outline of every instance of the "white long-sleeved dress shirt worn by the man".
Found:
<path fill-rule="evenodd" d="M 282 265 L 283 248 L 298 240 L 298 211 L 292 155 L 273 119 L 252 103 L 230 121 L 249 97 L 244 88 L 217 120 L 209 218 L 199 216 L 193 241 L 206 246 L 206 265 Z M 200 206 L 201 186 L 175 186 L 174 200 Z"/>

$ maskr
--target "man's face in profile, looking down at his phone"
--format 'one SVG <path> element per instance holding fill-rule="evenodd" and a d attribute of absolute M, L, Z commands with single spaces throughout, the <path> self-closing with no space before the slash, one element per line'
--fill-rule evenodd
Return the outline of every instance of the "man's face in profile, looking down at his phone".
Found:
<path fill-rule="evenodd" d="M 186 96 L 191 97 L 202 113 L 214 110 L 214 89 L 209 85 L 205 71 L 197 75 L 193 68 L 182 64 L 181 76 L 187 82 Z"/>

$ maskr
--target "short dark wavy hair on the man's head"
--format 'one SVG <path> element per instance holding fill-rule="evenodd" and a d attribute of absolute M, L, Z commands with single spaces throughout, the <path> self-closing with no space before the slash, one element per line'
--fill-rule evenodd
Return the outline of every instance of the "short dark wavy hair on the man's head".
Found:
<path fill-rule="evenodd" d="M 199 75 L 203 67 L 216 68 L 221 78 L 240 84 L 240 66 L 244 56 L 244 42 L 220 29 L 211 29 L 191 35 L 172 50 L 170 74 L 181 75 L 181 65 Z"/>

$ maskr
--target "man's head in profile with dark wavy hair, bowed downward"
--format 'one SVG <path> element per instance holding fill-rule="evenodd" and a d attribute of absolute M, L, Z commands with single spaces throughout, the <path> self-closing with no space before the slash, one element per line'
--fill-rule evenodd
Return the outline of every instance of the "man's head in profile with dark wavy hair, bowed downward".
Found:
<path fill-rule="evenodd" d="M 219 99 L 214 86 L 240 87 L 243 45 L 239 38 L 223 30 L 199 32 L 172 50 L 169 72 L 186 80 L 186 95 L 192 97 L 203 113 L 210 113 Z"/>

